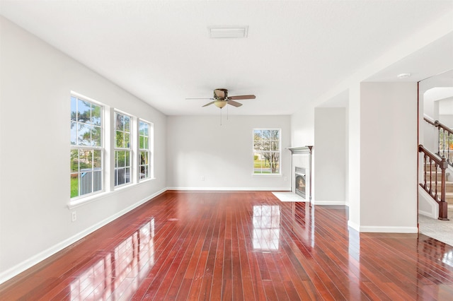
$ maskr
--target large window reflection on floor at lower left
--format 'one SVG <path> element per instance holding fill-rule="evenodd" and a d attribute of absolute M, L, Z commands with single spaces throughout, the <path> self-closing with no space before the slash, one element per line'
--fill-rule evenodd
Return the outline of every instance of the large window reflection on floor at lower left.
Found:
<path fill-rule="evenodd" d="M 152 266 L 154 218 L 72 281 L 71 300 L 127 300 Z"/>

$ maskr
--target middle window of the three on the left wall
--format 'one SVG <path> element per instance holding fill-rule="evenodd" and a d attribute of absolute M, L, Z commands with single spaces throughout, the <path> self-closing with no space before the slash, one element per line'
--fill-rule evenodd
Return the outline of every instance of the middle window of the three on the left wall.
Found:
<path fill-rule="evenodd" d="M 115 112 L 115 187 L 130 183 L 131 117 Z"/>

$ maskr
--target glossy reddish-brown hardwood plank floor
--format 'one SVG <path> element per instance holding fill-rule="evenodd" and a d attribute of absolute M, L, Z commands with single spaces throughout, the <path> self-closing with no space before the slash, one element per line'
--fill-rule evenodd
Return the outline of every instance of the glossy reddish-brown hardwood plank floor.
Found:
<path fill-rule="evenodd" d="M 1 300 L 452 300 L 453 247 L 345 206 L 166 191 L 0 285 Z"/>

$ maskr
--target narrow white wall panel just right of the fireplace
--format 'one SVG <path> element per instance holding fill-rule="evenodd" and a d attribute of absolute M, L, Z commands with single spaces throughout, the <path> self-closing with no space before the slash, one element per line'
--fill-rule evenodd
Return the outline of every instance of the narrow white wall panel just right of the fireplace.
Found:
<path fill-rule="evenodd" d="M 316 205 L 345 204 L 345 112 L 344 107 L 318 107 L 314 111 Z"/>

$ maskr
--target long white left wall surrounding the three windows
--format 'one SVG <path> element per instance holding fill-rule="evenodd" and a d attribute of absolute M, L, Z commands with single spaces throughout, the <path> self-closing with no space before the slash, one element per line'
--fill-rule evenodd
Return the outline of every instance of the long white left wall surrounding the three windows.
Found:
<path fill-rule="evenodd" d="M 0 282 L 166 187 L 166 116 L 3 17 L 0 54 Z M 76 43 L 76 41 L 74 41 Z M 69 203 L 71 90 L 154 123 L 154 175 Z"/>

